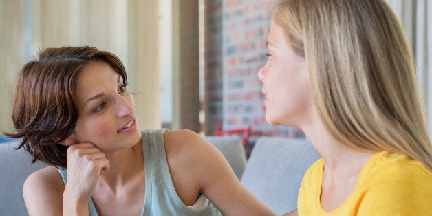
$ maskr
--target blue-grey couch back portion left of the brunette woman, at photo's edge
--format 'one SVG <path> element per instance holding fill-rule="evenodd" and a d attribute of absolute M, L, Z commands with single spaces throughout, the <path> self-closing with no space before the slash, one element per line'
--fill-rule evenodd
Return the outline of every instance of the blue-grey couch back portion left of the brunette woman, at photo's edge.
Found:
<path fill-rule="evenodd" d="M 28 215 L 23 199 L 25 179 L 47 164 L 36 162 L 25 149 L 15 150 L 19 140 L 0 142 L 0 215 Z"/>

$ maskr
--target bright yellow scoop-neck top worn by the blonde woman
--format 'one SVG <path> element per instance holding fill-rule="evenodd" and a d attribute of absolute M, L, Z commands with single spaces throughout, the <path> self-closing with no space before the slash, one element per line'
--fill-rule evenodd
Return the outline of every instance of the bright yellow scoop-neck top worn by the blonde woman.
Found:
<path fill-rule="evenodd" d="M 305 173 L 299 215 L 432 215 L 432 173 L 407 156 L 388 151 L 373 155 L 353 193 L 332 212 L 321 208 L 323 168 L 320 158 Z"/>

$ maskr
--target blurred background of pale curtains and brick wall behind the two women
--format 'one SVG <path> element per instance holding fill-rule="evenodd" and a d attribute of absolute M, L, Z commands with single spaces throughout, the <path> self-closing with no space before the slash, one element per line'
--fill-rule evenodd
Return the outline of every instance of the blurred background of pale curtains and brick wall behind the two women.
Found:
<path fill-rule="evenodd" d="M 432 124 L 432 3 L 388 0 L 415 56 Z M 257 72 L 266 62 L 268 0 L 0 0 L 0 130 L 13 131 L 14 82 L 45 47 L 91 45 L 127 69 L 141 129 L 202 135 L 250 129 L 257 136 L 303 138 L 271 127 Z M 429 13 L 428 13 L 429 12 Z"/>

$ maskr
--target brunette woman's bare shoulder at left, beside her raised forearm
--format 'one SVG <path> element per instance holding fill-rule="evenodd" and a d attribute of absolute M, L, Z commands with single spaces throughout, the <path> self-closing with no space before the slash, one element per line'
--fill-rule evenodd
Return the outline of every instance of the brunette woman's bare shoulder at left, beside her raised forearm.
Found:
<path fill-rule="evenodd" d="M 64 190 L 65 185 L 61 175 L 53 166 L 29 175 L 23 185 L 23 196 L 30 215 L 63 213 Z"/>

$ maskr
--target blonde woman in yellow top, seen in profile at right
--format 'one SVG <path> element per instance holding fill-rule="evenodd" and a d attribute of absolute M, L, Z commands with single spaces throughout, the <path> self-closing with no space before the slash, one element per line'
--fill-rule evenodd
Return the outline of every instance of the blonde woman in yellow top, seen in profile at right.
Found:
<path fill-rule="evenodd" d="M 432 145 L 387 3 L 273 1 L 267 44 L 266 120 L 303 129 L 322 157 L 287 215 L 432 215 Z"/>

